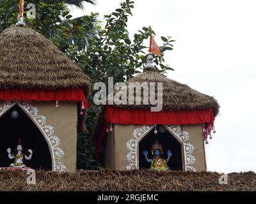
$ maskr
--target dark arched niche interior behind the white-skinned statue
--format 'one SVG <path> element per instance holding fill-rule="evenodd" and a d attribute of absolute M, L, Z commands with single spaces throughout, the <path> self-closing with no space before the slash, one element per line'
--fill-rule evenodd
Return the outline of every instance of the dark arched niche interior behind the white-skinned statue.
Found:
<path fill-rule="evenodd" d="M 13 119 L 11 113 L 17 110 L 19 117 Z M 0 166 L 7 167 L 13 163 L 13 160 L 8 159 L 7 149 L 12 149 L 11 154 L 17 147 L 17 143 L 21 139 L 24 153 L 29 156 L 28 150 L 33 150 L 31 160 L 24 159 L 24 164 L 35 170 L 51 170 L 51 152 L 44 136 L 36 127 L 35 123 L 24 113 L 19 106 L 15 105 L 13 108 L 4 113 L 0 117 Z"/>

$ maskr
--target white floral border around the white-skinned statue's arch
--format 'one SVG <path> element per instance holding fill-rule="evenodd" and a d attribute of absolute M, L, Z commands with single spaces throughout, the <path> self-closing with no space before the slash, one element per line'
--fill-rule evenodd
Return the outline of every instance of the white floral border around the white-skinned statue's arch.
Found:
<path fill-rule="evenodd" d="M 37 127 L 43 133 L 50 147 L 53 171 L 67 171 L 65 164 L 61 162 L 61 158 L 63 158 L 65 152 L 60 148 L 60 138 L 54 135 L 54 128 L 46 124 L 46 117 L 39 115 L 38 108 L 29 104 L 27 101 L 4 101 L 3 105 L 0 106 L 0 117 L 16 104 L 33 119 L 33 122 L 37 124 Z"/>

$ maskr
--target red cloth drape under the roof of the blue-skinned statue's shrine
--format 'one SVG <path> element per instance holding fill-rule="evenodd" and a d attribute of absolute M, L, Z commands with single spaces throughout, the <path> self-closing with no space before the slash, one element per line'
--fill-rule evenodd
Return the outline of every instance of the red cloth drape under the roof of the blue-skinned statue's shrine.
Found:
<path fill-rule="evenodd" d="M 211 124 L 214 123 L 214 115 L 211 108 L 205 110 L 175 110 L 150 112 L 150 110 L 132 110 L 108 106 L 104 113 L 105 124 L 134 124 L 134 125 L 185 125 L 185 124 Z M 100 130 L 96 141 L 95 154 L 99 156 L 100 146 L 106 135 L 106 128 Z"/>

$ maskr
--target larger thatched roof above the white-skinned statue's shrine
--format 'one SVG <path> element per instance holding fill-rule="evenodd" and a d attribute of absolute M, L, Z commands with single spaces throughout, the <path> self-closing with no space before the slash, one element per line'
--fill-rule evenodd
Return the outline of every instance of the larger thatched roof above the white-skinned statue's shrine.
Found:
<path fill-rule="evenodd" d="M 12 87 L 89 89 L 90 82 L 83 71 L 42 34 L 13 26 L 0 34 L 0 89 Z"/>

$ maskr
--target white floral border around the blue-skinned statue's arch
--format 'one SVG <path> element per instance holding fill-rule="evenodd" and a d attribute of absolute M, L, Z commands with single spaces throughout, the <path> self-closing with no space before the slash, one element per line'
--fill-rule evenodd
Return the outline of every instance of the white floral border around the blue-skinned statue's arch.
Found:
<path fill-rule="evenodd" d="M 133 138 L 129 140 L 126 145 L 129 150 L 127 154 L 127 159 L 129 164 L 126 166 L 127 170 L 138 169 L 138 145 L 140 140 L 148 134 L 154 126 L 141 126 L 141 128 L 136 128 L 133 131 Z M 186 171 L 196 171 L 193 164 L 195 163 L 196 159 L 193 156 L 193 151 L 195 147 L 193 144 L 189 143 L 189 133 L 186 131 L 182 131 L 180 126 L 166 126 L 167 129 L 172 131 L 172 133 L 180 138 L 182 141 L 183 149 L 184 149 L 184 167 Z"/>

